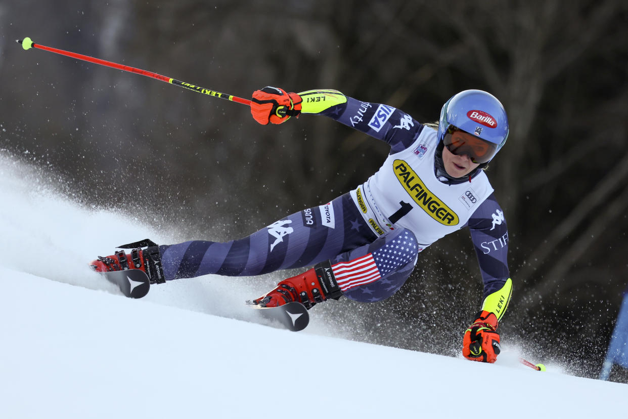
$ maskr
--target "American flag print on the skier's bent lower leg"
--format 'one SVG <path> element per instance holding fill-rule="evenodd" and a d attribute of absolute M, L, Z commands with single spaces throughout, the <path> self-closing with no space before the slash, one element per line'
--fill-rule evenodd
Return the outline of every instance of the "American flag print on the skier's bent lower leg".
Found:
<path fill-rule="evenodd" d="M 349 262 L 332 265 L 340 290 L 347 291 L 384 278 L 416 258 L 416 241 L 404 232 L 382 248 Z"/>

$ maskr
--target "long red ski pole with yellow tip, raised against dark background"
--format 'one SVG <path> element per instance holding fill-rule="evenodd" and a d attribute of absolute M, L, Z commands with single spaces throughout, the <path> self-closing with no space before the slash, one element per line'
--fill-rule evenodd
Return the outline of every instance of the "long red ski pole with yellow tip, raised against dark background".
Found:
<path fill-rule="evenodd" d="M 111 61 L 100 60 L 100 58 L 88 57 L 87 55 L 77 54 L 75 52 L 58 50 L 57 48 L 51 48 L 50 46 L 36 44 L 31 40 L 31 38 L 24 38 L 23 40 L 16 40 L 17 43 L 22 45 L 24 50 L 30 50 L 30 48 L 38 48 L 40 50 L 53 52 L 55 54 L 65 55 L 66 57 L 76 58 L 77 60 L 83 60 L 90 63 L 104 65 L 106 67 L 117 68 L 118 70 L 127 71 L 130 73 L 136 73 L 145 75 L 147 77 L 153 77 L 153 79 L 161 80 L 162 82 L 170 83 L 177 85 L 179 87 L 183 87 L 183 89 L 192 90 L 193 92 L 198 92 L 210 96 L 220 97 L 220 99 L 226 99 L 227 101 L 241 103 L 243 105 L 250 105 L 251 101 L 248 99 L 242 99 L 241 97 L 237 97 L 234 95 L 228 95 L 220 92 L 216 92 L 215 90 L 205 89 L 203 87 L 198 87 L 193 84 L 189 84 L 186 82 L 181 82 L 180 80 L 172 79 L 171 77 L 166 77 L 165 75 L 160 75 L 157 73 L 149 72 L 146 70 L 141 70 L 139 68 L 129 67 L 128 65 L 113 63 Z"/>

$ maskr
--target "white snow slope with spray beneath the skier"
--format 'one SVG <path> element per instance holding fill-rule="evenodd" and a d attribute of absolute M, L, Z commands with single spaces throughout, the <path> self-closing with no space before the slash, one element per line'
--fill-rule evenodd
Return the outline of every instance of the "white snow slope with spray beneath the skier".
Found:
<path fill-rule="evenodd" d="M 0 418 L 625 417 L 628 387 L 247 322 L 246 278 L 122 297 L 86 263 L 167 238 L 0 155 Z M 99 228 L 100 226 L 100 228 Z M 116 228 L 106 228 L 116 226 Z M 97 234 L 95 234 L 97 231 Z M 95 238 L 97 237 L 97 238 Z M 78 286 L 77 286 L 78 285 Z M 262 287 L 263 288 L 263 287 Z M 228 292 L 227 292 L 228 291 Z"/>

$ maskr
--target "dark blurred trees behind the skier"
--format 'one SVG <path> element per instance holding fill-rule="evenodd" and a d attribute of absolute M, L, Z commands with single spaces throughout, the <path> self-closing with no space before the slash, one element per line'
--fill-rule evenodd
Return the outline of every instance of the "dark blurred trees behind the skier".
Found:
<path fill-rule="evenodd" d="M 259 126 L 246 106 L 14 40 L 241 97 L 338 89 L 425 122 L 460 90 L 492 92 L 511 123 L 487 172 L 515 285 L 502 339 L 597 376 L 628 282 L 625 1 L 5 0 L 0 27 L 2 152 L 178 241 L 241 237 L 328 202 L 387 146 L 324 117 Z M 355 339 L 457 356 L 480 282 L 461 231 L 393 298 L 324 310 L 339 329 L 359 318 Z"/>

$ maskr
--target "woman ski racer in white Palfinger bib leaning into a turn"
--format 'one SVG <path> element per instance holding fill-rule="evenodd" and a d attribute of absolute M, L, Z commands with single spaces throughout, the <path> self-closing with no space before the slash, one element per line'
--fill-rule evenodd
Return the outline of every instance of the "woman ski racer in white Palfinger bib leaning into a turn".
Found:
<path fill-rule="evenodd" d="M 260 124 L 281 124 L 300 114 L 331 117 L 386 141 L 391 151 L 379 171 L 355 190 L 305 209 L 239 240 L 121 246 L 91 264 L 96 271 L 142 269 L 151 283 L 217 274 L 254 276 L 312 266 L 279 282 L 251 303 L 274 307 L 316 303 L 342 295 L 360 302 L 384 300 L 414 269 L 418 253 L 469 227 L 484 281 L 484 302 L 463 335 L 463 356 L 495 362 L 497 323 L 511 298 L 508 232 L 484 168 L 506 143 L 502 104 L 482 90 L 454 95 L 440 121 L 421 124 L 399 109 L 360 102 L 337 90 L 286 93 L 264 87 L 252 95 Z"/>

